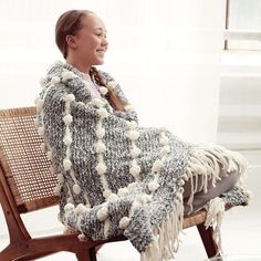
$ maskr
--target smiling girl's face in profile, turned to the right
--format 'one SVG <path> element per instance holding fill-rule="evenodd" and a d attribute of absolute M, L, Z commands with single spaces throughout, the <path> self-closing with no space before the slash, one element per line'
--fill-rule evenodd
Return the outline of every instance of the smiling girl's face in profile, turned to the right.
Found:
<path fill-rule="evenodd" d="M 82 18 L 82 29 L 73 36 L 76 59 L 90 65 L 104 63 L 107 50 L 106 28 L 94 13 Z"/>

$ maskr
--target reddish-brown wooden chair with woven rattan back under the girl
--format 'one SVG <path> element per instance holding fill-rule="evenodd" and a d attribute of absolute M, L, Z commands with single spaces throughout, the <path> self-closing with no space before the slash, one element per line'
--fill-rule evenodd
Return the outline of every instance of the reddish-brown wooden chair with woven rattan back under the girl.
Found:
<path fill-rule="evenodd" d="M 126 240 L 79 241 L 77 233 L 60 233 L 32 238 L 21 215 L 58 205 L 53 189 L 56 177 L 51 163 L 41 150 L 42 138 L 34 126 L 35 107 L 0 111 L 0 200 L 6 217 L 10 243 L 0 252 L 0 260 L 33 260 L 59 251 L 76 254 L 81 261 L 96 261 L 95 247 Z M 53 218 L 56 218 L 53 217 Z M 205 229 L 206 212 L 186 217 L 184 229 L 197 226 L 209 258 L 217 253 L 212 228 Z"/>

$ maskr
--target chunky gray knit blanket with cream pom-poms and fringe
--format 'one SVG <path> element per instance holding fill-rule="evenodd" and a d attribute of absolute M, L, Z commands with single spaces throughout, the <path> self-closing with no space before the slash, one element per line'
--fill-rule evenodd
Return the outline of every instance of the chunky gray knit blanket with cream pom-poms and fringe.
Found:
<path fill-rule="evenodd" d="M 247 163 L 220 146 L 192 145 L 166 128 L 139 126 L 121 86 L 100 74 L 106 86 L 100 86 L 96 97 L 80 71 L 55 63 L 35 101 L 43 149 L 58 175 L 60 219 L 82 232 L 80 240 L 124 234 L 142 260 L 169 260 L 182 229 L 185 181 L 200 176 L 206 191 L 221 168 L 242 175 Z M 124 111 L 109 105 L 108 90 L 127 104 Z M 191 188 L 190 205 L 194 192 Z M 208 205 L 207 225 L 220 217 L 225 203 L 247 202 L 244 189 L 232 188 Z"/>

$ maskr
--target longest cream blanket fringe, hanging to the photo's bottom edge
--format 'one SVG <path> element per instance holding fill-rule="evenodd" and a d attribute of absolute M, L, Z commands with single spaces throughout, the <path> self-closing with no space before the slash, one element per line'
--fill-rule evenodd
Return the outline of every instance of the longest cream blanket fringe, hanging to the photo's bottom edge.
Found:
<path fill-rule="evenodd" d="M 154 241 L 140 253 L 140 261 L 170 260 L 179 248 L 179 232 L 182 230 L 184 203 L 182 195 L 173 207 L 167 218 L 154 228 Z"/>

